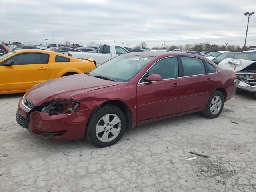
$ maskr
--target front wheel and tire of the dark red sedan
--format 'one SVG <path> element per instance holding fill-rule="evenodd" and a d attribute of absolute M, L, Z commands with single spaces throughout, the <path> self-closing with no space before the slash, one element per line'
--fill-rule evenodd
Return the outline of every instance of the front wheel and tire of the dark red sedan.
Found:
<path fill-rule="evenodd" d="M 89 119 L 86 137 L 96 147 L 106 147 L 118 142 L 126 129 L 124 112 L 113 105 L 102 106 Z"/>

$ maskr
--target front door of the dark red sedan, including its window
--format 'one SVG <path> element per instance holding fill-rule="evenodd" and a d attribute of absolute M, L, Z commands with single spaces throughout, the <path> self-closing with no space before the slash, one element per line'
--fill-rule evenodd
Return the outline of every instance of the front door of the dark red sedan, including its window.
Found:
<path fill-rule="evenodd" d="M 144 82 L 150 74 L 159 74 L 163 80 Z M 164 58 L 154 64 L 137 85 L 137 121 L 179 113 L 182 86 L 177 57 Z"/>

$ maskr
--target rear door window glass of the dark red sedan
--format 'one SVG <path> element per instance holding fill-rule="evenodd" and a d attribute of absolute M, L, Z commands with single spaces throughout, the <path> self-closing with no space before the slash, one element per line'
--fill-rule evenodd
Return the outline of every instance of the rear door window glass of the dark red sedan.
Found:
<path fill-rule="evenodd" d="M 201 59 L 193 57 L 180 57 L 184 76 L 205 74 L 204 63 Z"/>

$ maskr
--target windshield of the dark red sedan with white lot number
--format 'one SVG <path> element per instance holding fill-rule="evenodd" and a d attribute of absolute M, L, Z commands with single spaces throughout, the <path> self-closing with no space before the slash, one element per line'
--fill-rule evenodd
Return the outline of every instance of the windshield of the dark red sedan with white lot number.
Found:
<path fill-rule="evenodd" d="M 152 59 L 148 56 L 120 55 L 98 66 L 88 75 L 128 82 Z"/>

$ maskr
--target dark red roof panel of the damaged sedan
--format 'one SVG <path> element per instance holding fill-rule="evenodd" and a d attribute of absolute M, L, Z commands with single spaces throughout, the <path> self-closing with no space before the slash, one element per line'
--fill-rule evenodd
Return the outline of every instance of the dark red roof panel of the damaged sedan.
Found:
<path fill-rule="evenodd" d="M 131 52 L 131 53 L 125 53 L 123 55 L 134 55 L 134 56 L 146 56 L 146 57 L 168 57 L 168 56 L 192 56 L 192 57 L 198 57 L 205 59 L 205 57 L 197 55 L 197 54 L 191 54 L 191 53 L 185 53 L 185 52 L 161 52 L 161 51 L 143 51 L 143 52 Z"/>

